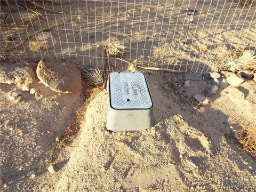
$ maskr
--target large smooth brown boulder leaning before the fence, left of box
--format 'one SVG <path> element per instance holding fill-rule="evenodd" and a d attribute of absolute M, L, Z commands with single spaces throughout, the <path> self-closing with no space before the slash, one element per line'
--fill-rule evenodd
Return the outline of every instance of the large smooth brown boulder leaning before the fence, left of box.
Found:
<path fill-rule="evenodd" d="M 70 63 L 41 60 L 36 74 L 44 85 L 56 92 L 73 93 L 81 89 L 81 72 Z"/>

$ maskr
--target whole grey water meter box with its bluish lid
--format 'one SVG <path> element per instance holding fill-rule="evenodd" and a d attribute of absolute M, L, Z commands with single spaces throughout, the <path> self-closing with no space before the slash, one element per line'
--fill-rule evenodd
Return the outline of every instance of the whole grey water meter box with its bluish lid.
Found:
<path fill-rule="evenodd" d="M 108 130 L 140 131 L 153 126 L 153 101 L 144 74 L 110 73 L 107 91 Z"/>

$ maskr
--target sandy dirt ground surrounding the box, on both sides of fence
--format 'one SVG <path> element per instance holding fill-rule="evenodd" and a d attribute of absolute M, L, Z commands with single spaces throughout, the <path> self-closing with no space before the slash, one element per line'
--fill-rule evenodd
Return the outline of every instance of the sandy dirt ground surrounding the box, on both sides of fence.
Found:
<path fill-rule="evenodd" d="M 151 66 L 206 73 L 223 64 L 223 57 L 231 49 L 255 50 L 253 8 L 246 5 L 241 15 L 234 17 L 238 14 L 236 7 L 244 7 L 235 1 L 230 6 L 229 1 L 190 2 L 165 4 L 159 1 L 158 4 L 150 1 L 149 7 L 142 6 L 141 1 L 135 6 L 130 1 L 128 4 L 107 1 L 102 8 L 99 1 L 66 1 L 62 6 L 58 3 L 53 6 L 47 1 L 47 8 L 67 13 L 47 12 L 46 16 L 45 10 L 38 9 L 47 26 L 65 22 L 47 30 L 54 35 L 56 45 L 51 50 L 35 52 L 29 50 L 29 41 L 26 41 L 9 52 L 3 48 L 11 47 L 13 42 L 4 41 L 1 42 L 1 58 L 4 55 L 5 60 L 1 63 L 19 65 L 22 59 L 31 64 L 41 58 L 57 58 L 82 67 L 102 69 L 103 46 L 114 39 L 127 46 L 123 54 L 127 61 L 144 55 L 150 58 Z M 20 20 L 15 6 L 10 4 L 13 17 L 6 19 L 7 22 Z M 196 7 L 201 14 L 195 17 L 188 42 L 184 44 L 184 10 L 189 6 Z M 20 11 L 23 17 L 28 17 L 26 10 Z M 5 12 L 6 9 L 1 9 L 1 14 Z M 33 21 L 27 28 L 28 33 L 42 28 L 44 22 Z M 196 25 L 198 23 L 200 25 Z M 1 26 L 1 41 L 8 35 L 17 42 L 27 36 L 23 26 L 9 30 Z M 205 50 L 199 51 L 199 47 Z M 12 58 L 12 54 L 20 59 Z M 109 62 L 114 70 L 136 70 L 114 58 Z M 149 63 L 143 61 L 142 64 Z M 106 90 L 95 93 L 97 96 L 89 103 L 91 87 L 84 81 L 80 92 L 61 94 L 36 79 L 31 87 L 38 88 L 43 98 L 35 99 L 22 91 L 22 100 L 18 103 L 7 99 L 7 94 L 20 87 L 1 83 L 1 190 L 238 191 L 236 185 L 239 184 L 254 187 L 246 190 L 255 190 L 255 158 L 239 149 L 235 133 L 245 124 L 256 127 L 256 83 L 246 80 L 237 87 L 244 98 L 230 96 L 234 87 L 219 89 L 209 105 L 198 108 L 193 95 L 209 88 L 211 81 L 191 81 L 189 87 L 184 87 L 183 73 L 142 72 L 154 101 L 155 125 L 140 132 L 107 131 Z M 174 83 L 175 79 L 178 83 Z M 52 160 L 57 172 L 51 174 L 47 167 L 58 145 L 56 138 L 62 137 L 74 121 L 76 111 L 84 105 L 85 121 L 80 124 L 81 130 L 54 154 Z"/>

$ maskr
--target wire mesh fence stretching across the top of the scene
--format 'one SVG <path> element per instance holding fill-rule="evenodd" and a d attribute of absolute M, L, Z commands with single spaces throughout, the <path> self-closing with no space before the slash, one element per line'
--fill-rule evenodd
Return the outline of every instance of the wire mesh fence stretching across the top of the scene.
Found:
<path fill-rule="evenodd" d="M 233 49 L 255 51 L 255 5 L 249 0 L 1 1 L 1 59 L 61 59 L 125 70 L 126 62 L 106 57 L 104 47 L 113 43 L 126 47 L 121 59 L 140 66 L 207 73 Z"/>

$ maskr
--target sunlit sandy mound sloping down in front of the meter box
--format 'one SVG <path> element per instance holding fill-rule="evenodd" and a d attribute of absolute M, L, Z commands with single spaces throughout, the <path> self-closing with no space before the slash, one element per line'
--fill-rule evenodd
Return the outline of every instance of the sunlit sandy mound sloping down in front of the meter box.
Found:
<path fill-rule="evenodd" d="M 223 191 L 255 181 L 223 138 L 213 151 L 210 138 L 180 115 L 149 130 L 113 133 L 106 129 L 106 113 L 103 91 L 87 108 L 79 146 L 56 191 Z"/>

